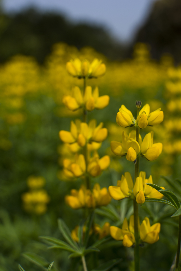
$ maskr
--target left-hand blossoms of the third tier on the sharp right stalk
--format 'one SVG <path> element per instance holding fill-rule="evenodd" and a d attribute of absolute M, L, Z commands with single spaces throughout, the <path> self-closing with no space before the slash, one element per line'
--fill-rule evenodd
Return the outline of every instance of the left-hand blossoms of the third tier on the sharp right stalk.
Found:
<path fill-rule="evenodd" d="M 131 196 L 133 180 L 129 172 L 122 175 L 121 180 L 117 181 L 117 186 L 109 186 L 109 194 L 113 199 L 119 200 Z"/>

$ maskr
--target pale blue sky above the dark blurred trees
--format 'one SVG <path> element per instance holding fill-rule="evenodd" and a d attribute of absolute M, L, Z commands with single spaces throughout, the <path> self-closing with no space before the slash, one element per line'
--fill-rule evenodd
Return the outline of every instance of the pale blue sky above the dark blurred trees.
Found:
<path fill-rule="evenodd" d="M 155 0 L 3 0 L 6 11 L 34 5 L 65 13 L 75 21 L 105 25 L 120 40 L 129 41 Z"/>

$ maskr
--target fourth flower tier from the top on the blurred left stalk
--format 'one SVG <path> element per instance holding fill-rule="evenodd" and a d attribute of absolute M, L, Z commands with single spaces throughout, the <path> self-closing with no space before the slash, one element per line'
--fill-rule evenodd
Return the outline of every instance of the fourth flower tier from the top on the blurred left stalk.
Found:
<path fill-rule="evenodd" d="M 106 170 L 110 165 L 110 157 L 105 155 L 99 158 L 96 151 L 92 157 L 88 157 L 87 172 L 92 177 L 97 177 L 102 171 Z M 86 172 L 85 157 L 75 155 L 74 160 L 64 159 L 63 160 L 63 172 L 67 178 L 79 178 Z"/>

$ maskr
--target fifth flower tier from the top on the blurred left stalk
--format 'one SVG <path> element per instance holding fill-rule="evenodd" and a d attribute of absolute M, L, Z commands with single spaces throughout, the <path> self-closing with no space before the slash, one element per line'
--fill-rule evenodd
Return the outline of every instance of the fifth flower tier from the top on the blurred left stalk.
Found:
<path fill-rule="evenodd" d="M 86 189 L 84 185 L 80 187 L 79 191 L 72 189 L 71 195 L 67 195 L 65 201 L 72 209 L 96 208 L 96 206 L 108 205 L 111 197 L 108 194 L 107 188 L 100 189 L 99 184 L 96 183 L 93 187 L 93 192 L 90 189 Z"/>

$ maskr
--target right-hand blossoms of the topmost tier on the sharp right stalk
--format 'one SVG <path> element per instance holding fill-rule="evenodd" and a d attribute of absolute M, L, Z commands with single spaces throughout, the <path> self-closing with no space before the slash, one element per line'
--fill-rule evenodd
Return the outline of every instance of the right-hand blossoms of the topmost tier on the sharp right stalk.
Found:
<path fill-rule="evenodd" d="M 146 117 L 147 117 L 147 120 L 146 120 Z M 163 111 L 161 111 L 161 108 L 150 113 L 149 104 L 145 104 L 143 106 L 136 120 L 138 126 L 141 129 L 145 128 L 147 125 L 154 126 L 154 125 L 160 124 L 162 121 L 163 121 Z"/>

